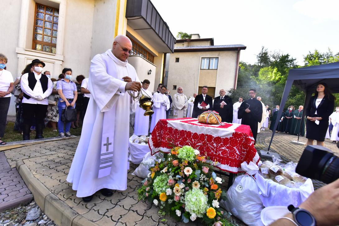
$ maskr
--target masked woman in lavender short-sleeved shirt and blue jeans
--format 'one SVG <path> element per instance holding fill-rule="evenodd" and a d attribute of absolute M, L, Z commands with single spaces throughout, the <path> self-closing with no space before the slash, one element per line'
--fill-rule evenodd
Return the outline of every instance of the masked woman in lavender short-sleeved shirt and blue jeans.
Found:
<path fill-rule="evenodd" d="M 72 69 L 64 68 L 62 70 L 62 74 L 65 77 L 57 82 L 57 90 L 60 96 L 60 99 L 58 102 L 58 110 L 59 110 L 58 129 L 59 129 L 59 136 L 61 138 L 65 138 L 65 137 L 72 136 L 71 133 L 69 133 L 72 122 L 61 121 L 62 109 L 65 109 L 66 107 L 69 107 L 69 106 L 75 108 L 75 102 L 77 101 L 78 92 L 77 92 L 77 86 L 72 81 Z M 66 133 L 64 133 L 64 125 L 66 127 L 65 129 Z"/>

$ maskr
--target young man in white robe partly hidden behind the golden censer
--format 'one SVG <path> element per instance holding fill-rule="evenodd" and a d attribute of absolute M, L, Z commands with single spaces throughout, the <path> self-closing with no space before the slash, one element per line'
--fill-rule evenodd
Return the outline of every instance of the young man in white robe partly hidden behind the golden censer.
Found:
<path fill-rule="evenodd" d="M 150 82 L 149 80 L 145 79 L 142 82 L 142 94 L 147 94 L 149 97 L 152 97 L 152 93 L 148 91 L 148 86 Z M 148 128 L 149 128 L 149 116 L 144 116 L 146 110 L 140 108 L 139 101 L 136 103 L 137 109 L 135 111 L 135 118 L 134 118 L 134 134 L 137 136 L 141 135 L 148 135 Z"/>

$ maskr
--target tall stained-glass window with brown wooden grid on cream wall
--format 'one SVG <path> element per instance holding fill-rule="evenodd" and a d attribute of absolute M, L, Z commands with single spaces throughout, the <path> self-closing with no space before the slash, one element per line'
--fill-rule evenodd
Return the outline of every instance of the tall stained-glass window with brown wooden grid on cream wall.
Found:
<path fill-rule="evenodd" d="M 35 19 L 32 48 L 56 53 L 59 9 L 35 4 Z"/>

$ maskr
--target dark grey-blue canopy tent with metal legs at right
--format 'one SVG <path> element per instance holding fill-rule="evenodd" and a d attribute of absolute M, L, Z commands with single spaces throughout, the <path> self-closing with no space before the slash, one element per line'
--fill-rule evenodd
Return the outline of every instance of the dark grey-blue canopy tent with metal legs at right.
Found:
<path fill-rule="evenodd" d="M 339 62 L 331 63 L 331 64 L 322 64 L 310 67 L 303 67 L 298 69 L 290 69 L 288 71 L 287 81 L 285 85 L 284 92 L 282 94 L 280 108 L 278 112 L 278 116 L 274 125 L 274 130 L 272 133 L 270 145 L 268 145 L 267 153 L 270 152 L 272 140 L 278 126 L 278 122 L 281 118 L 281 114 L 283 112 L 288 94 L 290 93 L 292 85 L 295 85 L 300 90 L 306 93 L 304 108 L 306 108 L 308 101 L 314 91 L 316 90 L 317 84 L 320 82 L 324 82 L 328 85 L 328 87 L 332 90 L 333 93 L 339 93 Z M 305 111 L 303 111 L 302 119 L 305 118 Z M 300 127 L 301 129 L 301 127 Z M 298 134 L 299 141 L 300 131 Z"/>

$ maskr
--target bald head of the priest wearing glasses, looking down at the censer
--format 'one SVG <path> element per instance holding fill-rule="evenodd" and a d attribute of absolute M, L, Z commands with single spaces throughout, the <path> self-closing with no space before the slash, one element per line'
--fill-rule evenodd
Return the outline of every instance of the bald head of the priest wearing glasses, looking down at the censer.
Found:
<path fill-rule="evenodd" d="M 113 41 L 112 53 L 121 61 L 126 61 L 129 51 L 132 50 L 132 42 L 124 35 L 118 35 Z"/>

